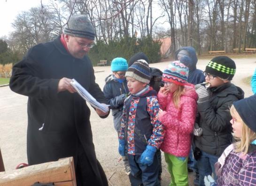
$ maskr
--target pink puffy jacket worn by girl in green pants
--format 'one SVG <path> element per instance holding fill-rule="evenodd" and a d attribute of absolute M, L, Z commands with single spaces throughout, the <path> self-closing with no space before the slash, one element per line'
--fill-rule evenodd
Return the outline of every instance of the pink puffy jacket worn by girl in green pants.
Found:
<path fill-rule="evenodd" d="M 185 86 L 185 93 L 180 97 L 179 109 L 176 109 L 172 95 L 163 95 L 160 92 L 157 95 L 160 108 L 163 110 L 158 119 L 166 130 L 160 149 L 174 156 L 187 157 L 191 147 L 198 96 L 194 85 Z"/>

